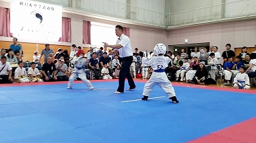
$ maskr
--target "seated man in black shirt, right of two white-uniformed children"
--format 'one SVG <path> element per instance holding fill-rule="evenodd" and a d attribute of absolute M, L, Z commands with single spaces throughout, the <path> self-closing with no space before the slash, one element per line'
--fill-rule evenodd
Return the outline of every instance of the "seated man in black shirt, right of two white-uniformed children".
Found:
<path fill-rule="evenodd" d="M 53 64 L 52 57 L 47 57 L 46 62 L 42 64 L 42 80 L 44 82 L 57 81 L 56 66 Z"/>

